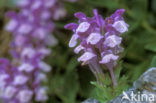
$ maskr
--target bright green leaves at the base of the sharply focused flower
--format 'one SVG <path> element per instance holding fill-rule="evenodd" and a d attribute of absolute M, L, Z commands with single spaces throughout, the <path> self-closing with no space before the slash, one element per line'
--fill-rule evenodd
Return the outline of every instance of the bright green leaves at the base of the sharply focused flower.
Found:
<path fill-rule="evenodd" d="M 107 103 L 128 88 L 127 77 L 124 75 L 122 77 L 120 76 L 121 67 L 116 68 L 115 74 L 118 81 L 116 87 L 112 86 L 111 78 L 108 74 L 105 74 L 104 78 L 101 78 L 102 83 L 100 85 L 97 82 L 91 82 L 91 84 L 96 86 L 95 98 L 100 100 L 101 103 Z"/>

